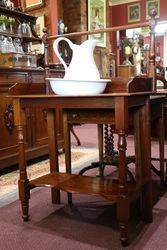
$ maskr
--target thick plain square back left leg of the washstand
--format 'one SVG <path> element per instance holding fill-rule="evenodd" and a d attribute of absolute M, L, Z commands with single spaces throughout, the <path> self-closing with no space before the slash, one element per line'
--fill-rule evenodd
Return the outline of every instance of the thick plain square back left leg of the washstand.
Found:
<path fill-rule="evenodd" d="M 48 141 L 50 172 L 59 172 L 58 162 L 58 144 L 57 144 L 57 127 L 56 127 L 56 110 L 47 111 Z M 51 199 L 53 204 L 60 204 L 60 190 L 51 188 Z"/>

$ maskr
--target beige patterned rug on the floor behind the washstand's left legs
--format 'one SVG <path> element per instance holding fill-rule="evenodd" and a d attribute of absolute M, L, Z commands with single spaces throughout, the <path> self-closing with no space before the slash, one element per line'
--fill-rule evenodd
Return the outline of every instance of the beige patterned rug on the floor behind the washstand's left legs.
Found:
<path fill-rule="evenodd" d="M 97 149 L 75 147 L 72 148 L 72 170 L 75 172 L 80 168 L 89 164 L 89 162 L 95 160 L 98 156 Z M 64 154 L 59 155 L 60 171 L 65 171 L 65 159 Z M 84 165 L 83 165 L 84 164 Z M 39 176 L 49 173 L 49 160 L 39 161 L 35 164 L 27 167 L 28 178 L 34 179 Z M 19 170 L 12 171 L 5 175 L 0 176 L 0 201 L 11 197 L 11 195 L 17 194 L 17 184 L 19 179 Z"/>

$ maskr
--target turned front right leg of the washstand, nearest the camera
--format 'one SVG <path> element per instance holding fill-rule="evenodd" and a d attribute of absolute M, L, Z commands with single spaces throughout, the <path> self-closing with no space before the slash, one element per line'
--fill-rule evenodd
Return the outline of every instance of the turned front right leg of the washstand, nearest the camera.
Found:
<path fill-rule="evenodd" d="M 127 192 L 127 164 L 126 164 L 126 134 L 129 117 L 128 117 L 128 100 L 127 98 L 116 98 L 115 105 L 115 127 L 118 131 L 118 200 L 117 200 L 117 218 L 120 228 L 120 240 L 123 246 L 128 245 L 128 220 L 130 201 Z"/>

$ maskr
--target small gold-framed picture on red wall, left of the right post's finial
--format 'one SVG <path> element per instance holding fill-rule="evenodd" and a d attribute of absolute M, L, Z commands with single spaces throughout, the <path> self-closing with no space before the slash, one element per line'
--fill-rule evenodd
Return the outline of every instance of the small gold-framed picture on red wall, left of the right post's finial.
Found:
<path fill-rule="evenodd" d="M 140 21 L 140 3 L 128 5 L 128 23 Z"/>

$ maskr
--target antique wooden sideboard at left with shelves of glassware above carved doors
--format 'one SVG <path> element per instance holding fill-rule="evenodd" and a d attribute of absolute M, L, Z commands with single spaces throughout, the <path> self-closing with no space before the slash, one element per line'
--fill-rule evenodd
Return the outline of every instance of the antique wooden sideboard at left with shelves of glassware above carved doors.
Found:
<path fill-rule="evenodd" d="M 8 90 L 15 83 L 44 82 L 44 70 L 36 67 L 36 55 L 30 54 L 28 49 L 30 42 L 41 42 L 41 38 L 34 30 L 37 17 L 6 6 L 0 6 L 0 12 L 6 20 L 10 21 L 12 18 L 13 22 L 11 29 L 8 26 L 1 29 L 1 40 L 11 39 L 13 49 L 15 48 L 11 52 L 7 46 L 3 51 L 1 47 L 0 51 L 0 169 L 2 169 L 18 162 L 13 104 L 12 100 L 7 98 Z M 25 24 L 27 24 L 26 29 Z M 18 52 L 18 46 L 22 48 L 22 52 L 20 50 Z M 48 152 L 45 113 L 42 110 L 26 109 L 26 120 L 27 159 L 32 159 Z"/>

